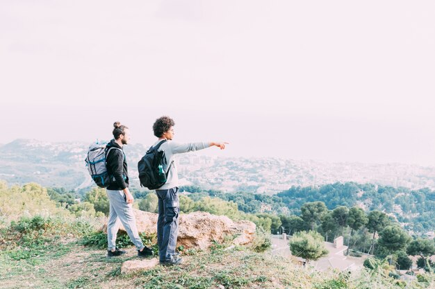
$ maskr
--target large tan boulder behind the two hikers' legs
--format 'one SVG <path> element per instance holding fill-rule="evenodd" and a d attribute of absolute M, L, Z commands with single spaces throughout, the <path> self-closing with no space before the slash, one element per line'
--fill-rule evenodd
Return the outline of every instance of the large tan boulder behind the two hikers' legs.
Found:
<path fill-rule="evenodd" d="M 158 215 L 137 209 L 133 211 L 138 231 L 145 234 L 156 234 Z M 106 232 L 106 226 L 102 228 L 104 232 Z M 226 236 L 236 236 L 232 242 L 234 245 L 245 245 L 254 239 L 255 229 L 253 222 L 246 220 L 235 222 L 227 216 L 215 216 L 199 211 L 182 214 L 179 216 L 177 246 L 183 245 L 186 249 L 206 249 L 211 246 L 213 240 L 222 243 Z M 122 225 L 120 230 L 125 231 Z"/>

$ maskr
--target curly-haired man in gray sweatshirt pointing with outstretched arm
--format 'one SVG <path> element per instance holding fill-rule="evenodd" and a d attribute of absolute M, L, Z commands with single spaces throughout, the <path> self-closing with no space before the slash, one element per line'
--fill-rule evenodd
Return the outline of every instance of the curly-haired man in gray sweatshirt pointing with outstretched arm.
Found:
<path fill-rule="evenodd" d="M 172 141 L 175 134 L 174 125 L 174 120 L 169 116 L 162 116 L 153 125 L 154 135 L 158 137 L 158 141 L 154 143 L 154 146 L 161 143 L 158 150 L 165 152 L 166 165 L 163 169 L 167 172 L 166 183 L 156 190 L 158 197 L 157 243 L 161 265 L 181 263 L 181 257 L 175 252 L 180 206 L 179 178 L 177 166 L 174 164 L 174 155 L 203 150 L 211 146 L 217 146 L 217 148 L 223 150 L 227 144 L 225 142 L 176 143 Z"/>

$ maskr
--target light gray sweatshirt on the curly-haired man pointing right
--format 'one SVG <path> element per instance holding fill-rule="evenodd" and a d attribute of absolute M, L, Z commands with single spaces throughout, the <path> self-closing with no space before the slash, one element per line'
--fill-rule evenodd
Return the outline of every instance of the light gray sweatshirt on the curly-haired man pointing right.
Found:
<path fill-rule="evenodd" d="M 156 146 L 160 142 L 161 140 L 156 141 L 153 146 Z M 175 164 L 176 154 L 181 154 L 183 152 L 193 152 L 195 150 L 204 150 L 204 148 L 208 147 L 210 147 L 210 143 L 176 143 L 174 141 L 166 141 L 165 143 L 163 143 L 160 148 L 158 148 L 158 150 L 165 151 L 167 166 L 170 166 L 172 161 L 174 161 L 174 164 L 172 164 L 169 173 L 167 173 L 166 184 L 158 189 L 167 190 L 174 188 L 175 186 L 179 186 L 177 166 Z M 167 170 L 167 166 L 163 168 L 165 171 Z"/>

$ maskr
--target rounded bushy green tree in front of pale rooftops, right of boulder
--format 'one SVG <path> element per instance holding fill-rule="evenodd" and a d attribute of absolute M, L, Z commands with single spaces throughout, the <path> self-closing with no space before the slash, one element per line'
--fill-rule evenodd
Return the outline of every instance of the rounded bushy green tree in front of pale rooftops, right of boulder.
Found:
<path fill-rule="evenodd" d="M 306 264 L 310 260 L 318 260 L 329 253 L 323 243 L 323 237 L 316 231 L 297 232 L 289 242 L 290 251 L 293 256 L 306 259 Z"/>

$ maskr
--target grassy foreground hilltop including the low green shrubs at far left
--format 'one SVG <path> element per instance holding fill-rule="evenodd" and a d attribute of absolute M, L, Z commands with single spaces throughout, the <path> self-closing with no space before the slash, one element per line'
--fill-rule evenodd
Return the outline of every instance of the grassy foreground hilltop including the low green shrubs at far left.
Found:
<path fill-rule="evenodd" d="M 74 226 L 56 220 L 26 219 L 11 225 L 6 230 L 10 234 L 1 237 L 0 288 L 399 289 L 434 285 L 429 274 L 407 284 L 368 270 L 320 273 L 284 257 L 255 252 L 258 247 L 228 247 L 231 242 L 213 242 L 206 251 L 180 247 L 183 263 L 179 266 L 122 274 L 122 263 L 137 258 L 135 247 L 120 236 L 118 245 L 126 246 L 127 254 L 108 259 L 106 235 L 81 226 L 85 232 L 76 234 Z M 155 236 L 142 236 L 142 240 L 152 245 Z"/>

